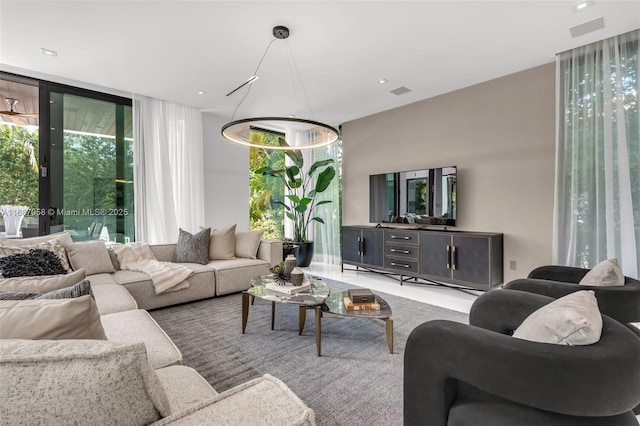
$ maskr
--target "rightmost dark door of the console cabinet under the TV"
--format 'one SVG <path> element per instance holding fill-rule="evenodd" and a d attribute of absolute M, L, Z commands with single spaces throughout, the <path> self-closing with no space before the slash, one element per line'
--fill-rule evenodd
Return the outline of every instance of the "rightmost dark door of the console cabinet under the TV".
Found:
<path fill-rule="evenodd" d="M 455 270 L 453 279 L 468 284 L 491 287 L 489 238 L 484 236 L 453 236 Z"/>

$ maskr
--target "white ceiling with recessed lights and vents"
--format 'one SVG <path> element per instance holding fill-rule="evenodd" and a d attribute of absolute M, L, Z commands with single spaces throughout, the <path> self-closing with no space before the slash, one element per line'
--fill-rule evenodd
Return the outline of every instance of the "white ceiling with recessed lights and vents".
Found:
<path fill-rule="evenodd" d="M 0 0 L 0 70 L 231 118 L 243 93 L 225 95 L 253 74 L 272 28 L 285 25 L 290 38 L 272 45 L 235 118 L 293 114 L 338 125 L 640 28 L 639 0 L 594 0 L 577 12 L 576 3 Z M 570 27 L 599 17 L 604 29 L 571 37 Z M 287 43 L 304 91 L 294 89 Z M 389 93 L 401 86 L 411 92 Z"/>

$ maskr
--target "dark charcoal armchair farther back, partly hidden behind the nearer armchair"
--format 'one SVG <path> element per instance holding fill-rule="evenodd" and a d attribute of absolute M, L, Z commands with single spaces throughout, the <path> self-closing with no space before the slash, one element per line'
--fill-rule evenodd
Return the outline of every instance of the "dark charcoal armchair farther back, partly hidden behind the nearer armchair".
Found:
<path fill-rule="evenodd" d="M 625 277 L 620 287 L 592 287 L 578 285 L 589 269 L 570 266 L 541 266 L 527 278 L 504 285 L 510 290 L 522 290 L 558 299 L 578 290 L 593 290 L 600 312 L 622 323 L 640 322 L 640 281 Z"/>

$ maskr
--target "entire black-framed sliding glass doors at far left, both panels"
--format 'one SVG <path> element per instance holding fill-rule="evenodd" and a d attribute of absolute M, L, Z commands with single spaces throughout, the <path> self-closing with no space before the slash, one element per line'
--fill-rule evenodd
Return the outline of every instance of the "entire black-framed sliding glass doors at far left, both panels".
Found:
<path fill-rule="evenodd" d="M 23 236 L 133 241 L 131 100 L 7 74 L 0 91 L 0 205 L 28 207 Z"/>

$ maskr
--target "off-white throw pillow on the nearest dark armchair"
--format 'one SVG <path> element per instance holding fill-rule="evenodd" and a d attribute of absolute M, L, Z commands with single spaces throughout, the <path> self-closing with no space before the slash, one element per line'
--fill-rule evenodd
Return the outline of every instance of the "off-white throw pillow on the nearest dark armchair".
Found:
<path fill-rule="evenodd" d="M 602 335 L 602 315 L 592 290 L 576 291 L 536 310 L 513 337 L 540 343 L 591 345 Z"/>

